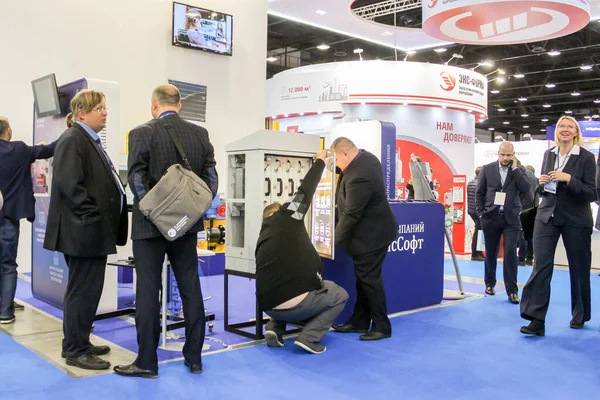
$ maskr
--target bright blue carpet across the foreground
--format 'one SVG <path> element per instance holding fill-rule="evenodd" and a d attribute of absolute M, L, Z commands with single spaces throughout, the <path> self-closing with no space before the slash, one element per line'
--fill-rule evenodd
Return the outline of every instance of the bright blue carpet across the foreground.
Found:
<path fill-rule="evenodd" d="M 0 399 L 593 398 L 600 392 L 600 324 L 569 329 L 568 272 L 555 272 L 552 289 L 543 338 L 521 335 L 518 306 L 493 296 L 395 318 L 391 339 L 365 343 L 330 333 L 319 356 L 286 340 L 282 349 L 204 357 L 200 376 L 181 362 L 164 364 L 158 380 L 71 379 L 0 334 Z M 600 290 L 595 275 L 592 290 Z"/>

